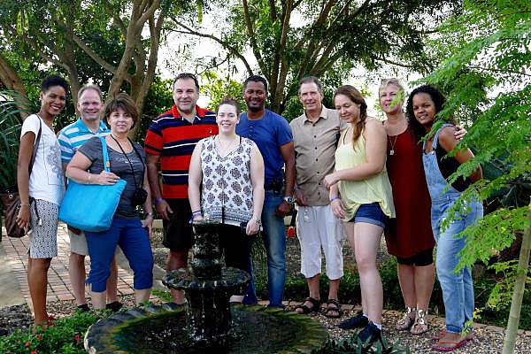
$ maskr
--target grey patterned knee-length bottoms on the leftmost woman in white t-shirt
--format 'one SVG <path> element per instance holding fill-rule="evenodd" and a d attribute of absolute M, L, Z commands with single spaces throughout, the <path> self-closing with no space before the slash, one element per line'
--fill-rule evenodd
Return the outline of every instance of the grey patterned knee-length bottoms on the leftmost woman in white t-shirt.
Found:
<path fill-rule="evenodd" d="M 35 207 L 39 213 L 35 212 Z M 53 258 L 58 255 L 58 212 L 59 205 L 42 199 L 35 199 L 30 210 L 29 258 Z M 40 222 L 39 222 L 40 220 Z"/>

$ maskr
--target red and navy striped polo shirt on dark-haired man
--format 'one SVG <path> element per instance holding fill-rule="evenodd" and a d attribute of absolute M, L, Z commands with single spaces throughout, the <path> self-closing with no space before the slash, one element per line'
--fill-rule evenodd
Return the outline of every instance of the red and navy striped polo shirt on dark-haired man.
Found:
<path fill-rule="evenodd" d="M 188 176 L 192 152 L 201 139 L 218 134 L 216 113 L 196 105 L 196 118 L 191 124 L 182 118 L 177 107 L 151 122 L 146 135 L 145 150 L 160 155 L 162 196 L 188 198 Z"/>

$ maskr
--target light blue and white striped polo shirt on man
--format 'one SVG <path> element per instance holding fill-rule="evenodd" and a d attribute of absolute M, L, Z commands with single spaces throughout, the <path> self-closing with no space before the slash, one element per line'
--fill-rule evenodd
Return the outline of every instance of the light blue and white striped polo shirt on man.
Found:
<path fill-rule="evenodd" d="M 96 133 L 93 133 L 85 123 L 77 119 L 72 124 L 64 127 L 59 132 L 58 141 L 61 147 L 61 162 L 68 164 L 81 145 L 87 142 L 93 136 L 105 136 L 111 133 L 111 130 L 105 125 L 104 121 L 100 119 L 100 127 Z"/>

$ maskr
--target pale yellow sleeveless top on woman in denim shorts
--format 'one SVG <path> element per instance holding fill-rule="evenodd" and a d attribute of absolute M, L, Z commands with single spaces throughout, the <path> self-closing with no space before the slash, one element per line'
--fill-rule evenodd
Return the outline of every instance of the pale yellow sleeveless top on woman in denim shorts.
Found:
<path fill-rule="evenodd" d="M 346 134 L 346 132 L 345 132 Z M 341 142 L 344 142 L 342 135 Z M 353 168 L 366 163 L 365 137 L 363 133 L 356 141 L 356 149 L 352 149 L 352 142 L 341 143 L 335 150 L 335 171 Z M 361 204 L 380 204 L 381 211 L 395 218 L 395 204 L 387 169 L 384 165 L 381 173 L 375 174 L 363 181 L 339 181 L 339 195 L 345 207 L 345 218 L 350 221 Z"/>

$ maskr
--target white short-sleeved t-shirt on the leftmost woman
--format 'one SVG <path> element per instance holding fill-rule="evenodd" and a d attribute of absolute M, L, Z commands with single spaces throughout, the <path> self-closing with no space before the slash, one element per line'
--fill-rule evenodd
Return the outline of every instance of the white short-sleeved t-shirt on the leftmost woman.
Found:
<path fill-rule="evenodd" d="M 32 114 L 24 119 L 20 139 L 27 132 L 39 134 L 39 116 Z M 29 196 L 53 204 L 61 204 L 65 190 L 63 168 L 61 166 L 61 149 L 55 132 L 42 123 L 41 141 L 35 155 L 35 163 L 29 176 Z"/>

